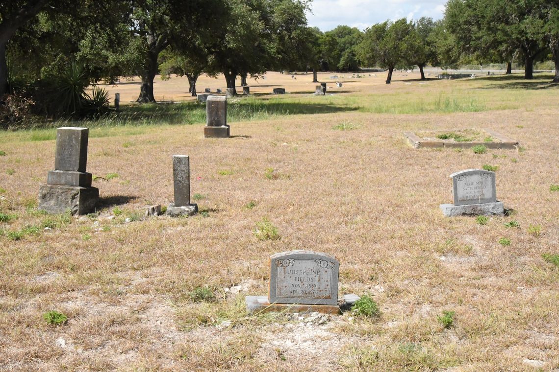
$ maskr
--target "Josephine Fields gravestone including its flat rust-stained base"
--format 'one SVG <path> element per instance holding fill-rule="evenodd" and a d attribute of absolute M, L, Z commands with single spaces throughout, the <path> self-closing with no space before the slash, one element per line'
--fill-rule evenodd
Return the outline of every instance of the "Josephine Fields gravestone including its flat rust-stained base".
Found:
<path fill-rule="evenodd" d="M 328 254 L 308 250 L 276 253 L 270 257 L 268 296 L 247 296 L 247 310 L 337 314 L 339 269 L 339 260 Z M 354 297 L 348 297 L 348 302 L 354 302 Z"/>

